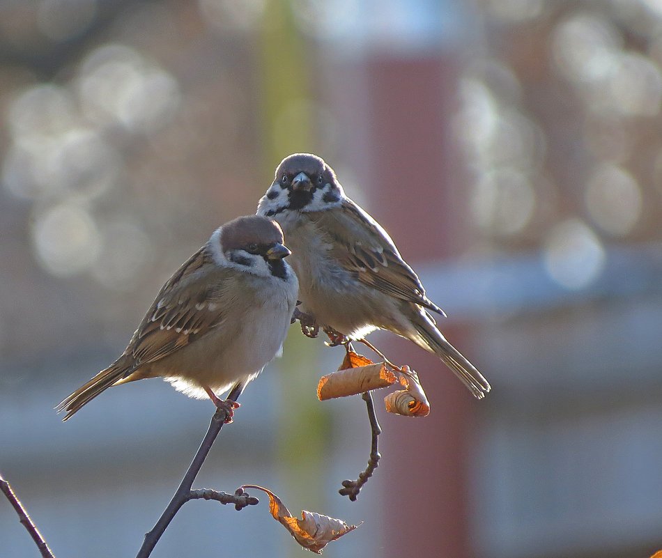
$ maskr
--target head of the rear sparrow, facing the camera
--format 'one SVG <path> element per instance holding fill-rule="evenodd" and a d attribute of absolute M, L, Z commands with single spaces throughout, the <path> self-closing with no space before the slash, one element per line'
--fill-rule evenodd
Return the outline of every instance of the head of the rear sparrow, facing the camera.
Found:
<path fill-rule="evenodd" d="M 344 198 L 333 169 L 321 157 L 295 153 L 282 160 L 276 178 L 262 196 L 258 215 L 274 217 L 284 211 L 323 211 L 339 206 Z"/>

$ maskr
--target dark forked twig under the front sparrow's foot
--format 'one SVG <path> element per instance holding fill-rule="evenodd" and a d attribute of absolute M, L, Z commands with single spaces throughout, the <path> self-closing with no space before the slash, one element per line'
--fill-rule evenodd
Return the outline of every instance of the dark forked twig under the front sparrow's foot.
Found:
<path fill-rule="evenodd" d="M 237 398 L 241 393 L 241 389 L 242 388 L 240 386 L 234 387 L 231 390 L 230 394 L 228 395 L 228 401 L 237 401 Z M 184 478 L 182 479 L 179 488 L 177 488 L 174 496 L 170 500 L 170 503 L 162 513 L 159 520 L 156 522 L 156 525 L 154 525 L 153 529 L 150 532 L 145 534 L 145 540 L 143 541 L 143 544 L 140 547 L 140 550 L 138 551 L 136 558 L 147 558 L 149 555 L 151 555 L 152 550 L 154 550 L 154 547 L 156 546 L 156 543 L 159 541 L 161 535 L 167 529 L 168 525 L 170 525 L 172 518 L 174 518 L 175 514 L 179 511 L 181 506 L 183 506 L 190 499 L 204 497 L 203 495 L 196 495 L 200 491 L 196 490 L 195 493 L 192 493 L 191 487 L 193 486 L 193 481 L 195 480 L 195 477 L 199 473 L 202 464 L 204 463 L 205 459 L 209 454 L 209 450 L 214 444 L 214 441 L 216 440 L 218 433 L 220 433 L 221 428 L 223 428 L 223 425 L 225 424 L 225 420 L 227 418 L 228 415 L 224 410 L 217 410 L 217 412 L 215 412 L 209 424 L 207 433 L 205 434 L 205 437 L 203 438 L 202 443 L 200 444 L 200 447 L 198 448 L 198 451 L 191 462 L 191 465 L 189 466 L 186 474 L 184 475 Z M 203 490 L 201 491 L 200 494 L 203 494 L 205 492 L 206 491 Z M 220 495 L 221 493 L 217 493 L 217 494 Z M 237 495 L 237 497 L 240 496 L 243 495 L 242 494 Z M 244 498 L 247 497 L 248 496 L 246 495 Z M 221 500 L 219 499 L 219 501 Z M 227 502 L 222 502 L 222 503 L 227 503 Z M 237 509 L 242 509 L 245 505 L 252 504 L 252 502 L 243 505 L 238 504 L 238 502 L 233 502 L 233 503 L 235 504 Z"/>

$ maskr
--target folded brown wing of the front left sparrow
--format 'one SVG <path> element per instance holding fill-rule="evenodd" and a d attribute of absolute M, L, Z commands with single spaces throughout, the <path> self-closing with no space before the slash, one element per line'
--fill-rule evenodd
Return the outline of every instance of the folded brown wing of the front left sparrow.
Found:
<path fill-rule="evenodd" d="M 160 290 L 126 348 L 133 369 L 179 350 L 215 327 L 227 314 L 224 291 L 235 270 L 219 268 L 206 247 L 186 261 Z"/>

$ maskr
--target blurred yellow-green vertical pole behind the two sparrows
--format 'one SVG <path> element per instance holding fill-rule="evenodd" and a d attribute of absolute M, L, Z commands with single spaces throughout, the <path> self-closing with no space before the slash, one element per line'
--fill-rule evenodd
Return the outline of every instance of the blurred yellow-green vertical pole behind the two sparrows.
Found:
<path fill-rule="evenodd" d="M 307 102 L 309 65 L 305 40 L 287 0 L 268 0 L 261 47 L 261 104 L 264 176 L 283 157 L 311 150 L 311 114 Z M 266 185 L 265 185 L 266 186 Z M 287 239 L 285 239 L 287 242 Z M 317 401 L 320 343 L 304 337 L 295 324 L 285 343 L 279 373 L 282 400 L 277 419 L 277 463 L 283 486 L 277 492 L 290 509 L 324 509 L 329 417 Z M 298 556 L 300 550 L 293 548 Z"/>

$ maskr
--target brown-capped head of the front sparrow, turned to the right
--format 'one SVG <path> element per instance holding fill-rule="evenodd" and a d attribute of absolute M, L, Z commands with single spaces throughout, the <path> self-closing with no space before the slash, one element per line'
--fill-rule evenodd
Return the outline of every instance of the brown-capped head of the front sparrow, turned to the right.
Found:
<path fill-rule="evenodd" d="M 217 262 L 224 265 L 264 277 L 288 276 L 283 258 L 291 251 L 284 245 L 279 224 L 266 217 L 237 217 L 217 228 L 210 244 Z"/>

